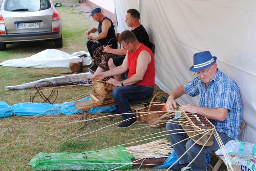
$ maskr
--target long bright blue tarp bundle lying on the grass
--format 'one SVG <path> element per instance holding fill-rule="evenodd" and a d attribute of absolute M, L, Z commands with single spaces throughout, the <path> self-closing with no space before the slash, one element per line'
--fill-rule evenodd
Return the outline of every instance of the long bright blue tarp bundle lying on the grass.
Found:
<path fill-rule="evenodd" d="M 82 100 L 91 100 L 91 97 L 83 98 Z M 93 107 L 88 113 L 108 113 L 116 110 L 115 106 L 108 107 Z M 44 115 L 73 115 L 82 113 L 81 109 L 76 109 L 74 102 L 64 102 L 62 104 L 48 103 L 20 103 L 9 106 L 6 102 L 0 102 L 0 118 L 18 115 L 18 116 L 44 116 Z"/>

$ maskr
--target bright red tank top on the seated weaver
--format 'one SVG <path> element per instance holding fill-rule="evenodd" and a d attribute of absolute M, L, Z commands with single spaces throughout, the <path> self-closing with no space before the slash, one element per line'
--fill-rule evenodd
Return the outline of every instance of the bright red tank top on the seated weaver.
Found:
<path fill-rule="evenodd" d="M 143 77 L 143 80 L 136 82 L 135 84 L 141 86 L 155 86 L 155 60 L 152 51 L 145 45 L 141 44 L 139 48 L 133 53 L 128 52 L 128 78 L 136 73 L 137 59 L 141 51 L 148 51 L 151 56 L 151 61 L 148 64 L 147 71 Z"/>

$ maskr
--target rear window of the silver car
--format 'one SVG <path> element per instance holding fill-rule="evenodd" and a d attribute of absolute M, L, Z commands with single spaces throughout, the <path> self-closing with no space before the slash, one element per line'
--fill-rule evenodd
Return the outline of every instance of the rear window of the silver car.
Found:
<path fill-rule="evenodd" d="M 51 7 L 48 0 L 6 0 L 5 11 L 41 11 Z"/>

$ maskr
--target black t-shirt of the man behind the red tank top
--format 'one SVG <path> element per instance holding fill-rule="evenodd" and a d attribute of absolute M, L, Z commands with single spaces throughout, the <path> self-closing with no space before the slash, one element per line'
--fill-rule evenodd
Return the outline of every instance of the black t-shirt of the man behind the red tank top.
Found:
<path fill-rule="evenodd" d="M 132 30 L 132 33 L 134 33 L 140 43 L 143 43 L 145 46 L 150 48 L 148 33 L 143 25 L 140 25 L 139 27 Z"/>

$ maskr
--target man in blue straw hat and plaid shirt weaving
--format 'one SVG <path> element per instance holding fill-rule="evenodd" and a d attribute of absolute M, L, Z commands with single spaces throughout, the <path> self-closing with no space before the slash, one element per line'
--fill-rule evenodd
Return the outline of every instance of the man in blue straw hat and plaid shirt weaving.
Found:
<path fill-rule="evenodd" d="M 217 57 L 212 56 L 210 51 L 196 53 L 194 65 L 189 70 L 195 72 L 197 77 L 176 87 L 168 97 L 165 107 L 167 110 L 176 108 L 175 99 L 184 94 L 192 97 L 199 95 L 199 106 L 183 105 L 181 112 L 197 113 L 208 118 L 215 125 L 223 144 L 226 144 L 230 140 L 237 139 L 240 134 L 242 104 L 236 82 L 217 68 L 216 60 Z M 177 119 L 171 121 L 175 122 Z M 171 170 L 180 171 L 195 159 L 190 164 L 191 170 L 205 171 L 206 154 L 219 149 L 215 137 L 212 146 L 204 146 L 202 149 L 198 144 L 193 145 L 193 140 L 185 140 L 189 136 L 179 124 L 168 122 L 166 129 L 172 144 L 177 143 L 173 146 L 177 158 L 185 154 L 180 158 L 179 164 L 174 165 Z M 189 151 L 186 153 L 187 149 Z"/>

